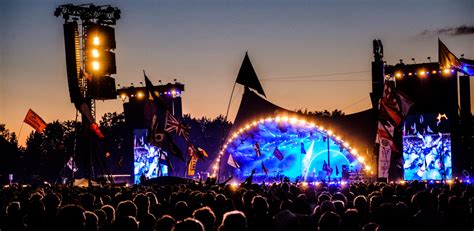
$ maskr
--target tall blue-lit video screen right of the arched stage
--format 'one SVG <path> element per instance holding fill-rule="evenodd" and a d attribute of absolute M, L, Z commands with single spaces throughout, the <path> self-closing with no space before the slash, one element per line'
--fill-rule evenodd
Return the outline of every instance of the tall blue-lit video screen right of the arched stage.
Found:
<path fill-rule="evenodd" d="M 451 134 L 446 114 L 418 114 L 406 118 L 403 159 L 405 180 L 451 179 Z"/>

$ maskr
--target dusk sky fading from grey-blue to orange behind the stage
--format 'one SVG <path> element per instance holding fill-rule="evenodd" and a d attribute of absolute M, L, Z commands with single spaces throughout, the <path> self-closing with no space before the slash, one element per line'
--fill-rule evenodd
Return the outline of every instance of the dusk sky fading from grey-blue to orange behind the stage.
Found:
<path fill-rule="evenodd" d="M 0 123 L 17 133 L 29 108 L 46 122 L 73 120 L 66 80 L 62 18 L 57 6 L 91 1 L 0 1 Z M 267 98 L 287 109 L 346 114 L 370 107 L 372 40 L 395 64 L 437 61 L 438 37 L 474 59 L 472 0 L 95 1 L 122 11 L 116 25 L 122 86 L 178 79 L 183 111 L 225 114 L 246 51 Z M 453 28 L 470 30 L 456 33 Z M 471 89 L 474 81 L 471 80 Z M 473 91 L 473 90 L 471 90 Z M 238 108 L 236 88 L 230 120 Z M 471 101 L 474 97 L 471 94 Z M 474 104 L 473 104 L 474 105 Z M 473 106 L 474 108 L 474 106 Z M 98 117 L 122 112 L 122 101 L 98 102 Z M 20 143 L 32 131 L 24 125 Z"/>

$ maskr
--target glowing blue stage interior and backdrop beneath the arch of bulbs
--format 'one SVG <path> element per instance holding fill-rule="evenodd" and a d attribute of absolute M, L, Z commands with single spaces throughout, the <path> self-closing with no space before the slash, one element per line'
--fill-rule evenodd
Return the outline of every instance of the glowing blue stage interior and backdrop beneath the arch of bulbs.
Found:
<path fill-rule="evenodd" d="M 362 174 L 365 162 L 364 157 L 332 131 L 288 117 L 261 119 L 245 125 L 224 147 L 223 162 L 229 163 L 232 155 L 230 165 L 225 164 L 224 174 L 241 179 L 253 169 L 261 180 L 282 176 L 327 180 L 328 174 L 331 179 L 340 179 L 343 170 L 356 176 Z"/>

